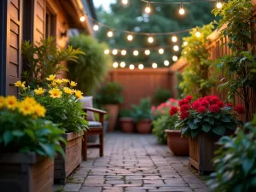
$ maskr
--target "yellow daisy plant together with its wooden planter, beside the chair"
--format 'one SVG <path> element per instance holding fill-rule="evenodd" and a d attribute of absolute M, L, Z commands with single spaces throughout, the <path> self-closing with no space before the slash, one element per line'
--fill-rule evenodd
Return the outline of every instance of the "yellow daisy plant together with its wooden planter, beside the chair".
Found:
<path fill-rule="evenodd" d="M 24 82 L 25 83 L 25 82 Z M 55 75 L 46 78 L 46 87 L 21 88 L 21 96 L 34 96 L 37 102 L 42 104 L 47 113 L 45 119 L 50 119 L 55 124 L 59 124 L 65 131 L 63 138 L 67 141 L 67 146 L 62 146 L 65 160 L 61 154 L 55 157 L 55 180 L 65 183 L 66 178 L 82 161 L 82 135 L 88 129 L 88 122 L 82 103 L 79 98 L 83 93 L 74 90 L 77 84 L 68 79 L 56 79 Z"/>

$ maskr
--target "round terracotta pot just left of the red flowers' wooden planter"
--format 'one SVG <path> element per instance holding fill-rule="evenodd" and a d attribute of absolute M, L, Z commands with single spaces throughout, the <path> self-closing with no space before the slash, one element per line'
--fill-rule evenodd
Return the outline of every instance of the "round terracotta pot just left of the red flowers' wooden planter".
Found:
<path fill-rule="evenodd" d="M 168 147 L 175 155 L 189 155 L 189 138 L 181 137 L 181 131 L 166 130 Z"/>

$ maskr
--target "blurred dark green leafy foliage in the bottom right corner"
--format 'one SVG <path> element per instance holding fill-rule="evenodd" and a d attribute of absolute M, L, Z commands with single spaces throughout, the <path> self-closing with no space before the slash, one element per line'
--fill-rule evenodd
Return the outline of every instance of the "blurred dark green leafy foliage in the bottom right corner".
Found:
<path fill-rule="evenodd" d="M 208 181 L 212 192 L 256 190 L 256 116 L 236 137 L 222 137 L 214 160 L 216 172 Z"/>

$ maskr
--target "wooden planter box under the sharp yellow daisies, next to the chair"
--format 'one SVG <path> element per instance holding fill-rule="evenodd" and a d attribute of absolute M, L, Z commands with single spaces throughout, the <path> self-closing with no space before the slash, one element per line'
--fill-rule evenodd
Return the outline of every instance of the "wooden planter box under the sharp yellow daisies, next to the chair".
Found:
<path fill-rule="evenodd" d="M 79 133 L 66 133 L 63 137 L 67 140 L 67 145 L 63 145 L 66 160 L 57 154 L 55 157 L 55 181 L 66 183 L 67 176 L 70 175 L 82 162 L 82 137 Z"/>

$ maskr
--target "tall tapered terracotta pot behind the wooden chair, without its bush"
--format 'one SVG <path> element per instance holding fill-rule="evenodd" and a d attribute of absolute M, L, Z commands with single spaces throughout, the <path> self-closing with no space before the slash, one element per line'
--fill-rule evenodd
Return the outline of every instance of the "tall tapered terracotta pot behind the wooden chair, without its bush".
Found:
<path fill-rule="evenodd" d="M 109 114 L 108 132 L 113 131 L 119 114 L 119 105 L 105 105 L 104 108 Z"/>

